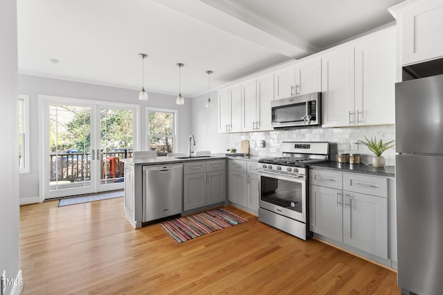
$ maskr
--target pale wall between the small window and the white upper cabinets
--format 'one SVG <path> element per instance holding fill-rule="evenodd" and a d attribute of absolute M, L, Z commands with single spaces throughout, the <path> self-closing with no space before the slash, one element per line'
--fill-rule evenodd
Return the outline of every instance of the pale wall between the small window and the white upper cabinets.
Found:
<path fill-rule="evenodd" d="M 192 98 L 192 134 L 197 142 L 195 151 L 213 151 L 224 153 L 230 147 L 229 135 L 218 133 L 218 95 L 210 93 L 212 108 L 206 108 L 208 95 Z"/>

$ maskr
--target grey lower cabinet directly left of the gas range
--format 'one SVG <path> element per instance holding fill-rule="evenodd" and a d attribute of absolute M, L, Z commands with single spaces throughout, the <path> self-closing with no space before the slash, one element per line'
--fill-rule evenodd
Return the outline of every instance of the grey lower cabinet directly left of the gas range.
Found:
<path fill-rule="evenodd" d="M 228 160 L 228 169 L 229 201 L 253 213 L 258 213 L 257 162 Z"/>

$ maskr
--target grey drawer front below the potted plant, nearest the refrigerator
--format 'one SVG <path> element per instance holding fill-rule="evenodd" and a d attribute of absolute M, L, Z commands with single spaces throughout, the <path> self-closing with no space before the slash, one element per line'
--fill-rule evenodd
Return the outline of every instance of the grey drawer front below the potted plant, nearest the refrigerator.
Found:
<path fill-rule="evenodd" d="M 343 189 L 366 193 L 372 196 L 388 197 L 388 179 L 374 176 L 343 173 Z"/>

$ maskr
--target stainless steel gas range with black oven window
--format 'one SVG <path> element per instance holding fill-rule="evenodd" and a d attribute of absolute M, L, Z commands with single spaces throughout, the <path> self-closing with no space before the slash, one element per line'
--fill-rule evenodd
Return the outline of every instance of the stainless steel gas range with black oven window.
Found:
<path fill-rule="evenodd" d="M 258 219 L 307 240 L 309 231 L 308 165 L 329 160 L 329 142 L 282 142 L 282 157 L 258 160 Z"/>

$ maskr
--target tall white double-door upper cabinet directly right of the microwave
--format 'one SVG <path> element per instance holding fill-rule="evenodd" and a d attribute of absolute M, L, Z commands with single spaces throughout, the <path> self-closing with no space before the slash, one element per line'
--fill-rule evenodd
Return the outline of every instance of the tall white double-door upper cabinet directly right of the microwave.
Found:
<path fill-rule="evenodd" d="M 395 28 L 322 56 L 323 127 L 394 124 Z"/>

